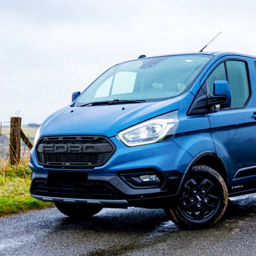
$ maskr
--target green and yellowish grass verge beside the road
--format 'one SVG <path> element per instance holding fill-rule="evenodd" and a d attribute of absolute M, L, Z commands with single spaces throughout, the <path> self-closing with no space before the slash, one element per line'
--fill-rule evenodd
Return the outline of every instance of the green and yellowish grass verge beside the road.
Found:
<path fill-rule="evenodd" d="M 23 158 L 17 166 L 10 166 L 7 160 L 0 160 L 0 216 L 53 206 L 52 203 L 41 202 L 30 196 L 28 160 L 28 157 Z"/>

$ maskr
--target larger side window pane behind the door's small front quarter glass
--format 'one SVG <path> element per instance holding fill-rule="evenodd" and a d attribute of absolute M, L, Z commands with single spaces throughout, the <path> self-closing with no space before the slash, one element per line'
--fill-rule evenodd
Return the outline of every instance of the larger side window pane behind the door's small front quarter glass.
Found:
<path fill-rule="evenodd" d="M 231 108 L 244 106 L 249 98 L 249 84 L 246 64 L 238 60 L 226 62 L 228 82 L 231 90 Z"/>

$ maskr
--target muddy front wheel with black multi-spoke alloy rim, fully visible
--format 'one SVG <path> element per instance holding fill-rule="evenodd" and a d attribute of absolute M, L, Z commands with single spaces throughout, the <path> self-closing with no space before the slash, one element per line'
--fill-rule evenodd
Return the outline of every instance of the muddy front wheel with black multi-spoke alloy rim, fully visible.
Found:
<path fill-rule="evenodd" d="M 207 228 L 220 220 L 227 204 L 228 190 L 220 174 L 205 165 L 194 166 L 167 215 L 181 228 Z"/>

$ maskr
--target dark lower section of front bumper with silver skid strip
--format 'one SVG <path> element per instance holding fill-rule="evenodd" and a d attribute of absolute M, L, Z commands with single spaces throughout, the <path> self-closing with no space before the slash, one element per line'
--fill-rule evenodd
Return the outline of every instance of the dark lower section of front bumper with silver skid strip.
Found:
<path fill-rule="evenodd" d="M 118 175 L 89 176 L 87 184 L 52 184 L 48 183 L 48 175 L 33 173 L 30 194 L 48 202 L 100 204 L 110 208 L 164 208 L 176 199 L 184 175 L 177 171 L 156 173 L 161 176 L 158 186 L 141 187 L 130 184 Z"/>

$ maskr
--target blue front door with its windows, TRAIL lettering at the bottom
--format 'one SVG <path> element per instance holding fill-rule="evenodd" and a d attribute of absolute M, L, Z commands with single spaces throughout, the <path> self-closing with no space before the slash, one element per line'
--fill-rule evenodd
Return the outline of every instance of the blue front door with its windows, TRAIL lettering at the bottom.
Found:
<path fill-rule="evenodd" d="M 249 77 L 251 58 L 230 58 L 220 62 L 206 78 L 202 89 L 213 94 L 216 80 L 227 80 L 231 106 L 208 114 L 216 153 L 228 171 L 229 193 L 256 187 L 256 114 Z M 252 70 L 253 74 L 256 70 Z"/>

